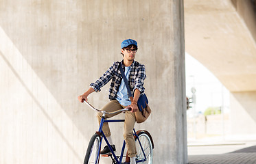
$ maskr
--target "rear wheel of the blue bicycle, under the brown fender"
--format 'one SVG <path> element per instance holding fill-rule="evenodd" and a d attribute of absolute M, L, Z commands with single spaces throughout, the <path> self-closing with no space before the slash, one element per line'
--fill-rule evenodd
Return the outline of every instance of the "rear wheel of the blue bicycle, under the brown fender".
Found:
<path fill-rule="evenodd" d="M 141 150 L 141 146 L 139 145 L 139 141 L 137 137 L 135 138 L 135 145 L 137 149 L 136 160 L 143 161 L 141 163 L 152 164 L 153 163 L 153 143 L 152 143 L 152 140 L 150 139 L 151 137 L 148 135 L 148 133 L 144 131 L 139 132 L 138 137 L 139 137 L 139 141 L 141 141 L 141 146 L 145 152 L 146 161 L 143 161 L 145 159 L 145 156 L 143 154 L 143 151 Z"/>

